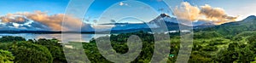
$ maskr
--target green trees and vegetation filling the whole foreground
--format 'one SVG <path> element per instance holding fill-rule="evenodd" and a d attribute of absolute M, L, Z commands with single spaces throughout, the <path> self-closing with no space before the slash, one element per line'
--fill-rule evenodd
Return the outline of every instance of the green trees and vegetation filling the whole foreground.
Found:
<path fill-rule="evenodd" d="M 143 31 L 111 35 L 111 45 L 119 54 L 125 54 L 129 49 L 126 40 L 131 35 L 141 37 L 143 49 L 137 59 L 131 63 L 148 63 L 154 53 L 154 44 L 170 43 L 171 56 L 168 63 L 174 63 L 177 59 L 180 45 L 179 33 L 172 33 L 171 40 L 154 42 L 154 35 Z M 176 35 L 176 36 L 173 36 Z M 104 37 L 99 37 L 104 38 Z M 57 39 L 25 40 L 23 37 L 0 38 L 0 62 L 1 63 L 67 63 L 63 53 L 63 47 Z M 75 43 L 68 43 L 75 44 Z M 96 39 L 90 43 L 83 43 L 84 53 L 92 63 L 111 63 L 99 53 L 96 47 Z M 243 31 L 236 35 L 224 35 L 218 31 L 198 31 L 194 34 L 193 51 L 189 63 L 255 63 L 256 62 L 256 31 Z M 68 48 L 64 48 L 68 49 Z M 157 49 L 157 48 L 156 48 Z M 67 51 L 69 54 L 78 54 L 76 46 Z M 72 53 L 73 52 L 73 53 Z M 157 51 L 155 51 L 158 53 Z M 111 54 L 110 54 L 111 55 Z M 76 59 L 74 58 L 70 59 Z M 82 61 L 72 60 L 73 63 Z"/>

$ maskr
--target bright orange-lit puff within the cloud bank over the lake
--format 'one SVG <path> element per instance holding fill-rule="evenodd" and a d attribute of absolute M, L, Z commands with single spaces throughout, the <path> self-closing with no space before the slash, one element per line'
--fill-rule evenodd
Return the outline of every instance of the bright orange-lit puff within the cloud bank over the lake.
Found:
<path fill-rule="evenodd" d="M 66 15 L 65 14 L 53 14 L 53 15 L 48 15 L 44 12 L 41 11 L 36 11 L 34 13 L 28 13 L 26 14 L 26 17 L 28 19 L 37 21 L 39 23 L 44 24 L 45 26 L 49 26 L 51 29 L 55 31 L 61 31 L 61 28 L 66 31 L 68 29 L 73 29 L 74 27 L 80 27 L 80 25 L 83 25 L 82 21 L 79 19 L 76 19 L 72 16 Z M 65 17 L 65 26 L 61 26 L 62 21 Z M 80 27 L 81 28 L 81 27 Z"/>

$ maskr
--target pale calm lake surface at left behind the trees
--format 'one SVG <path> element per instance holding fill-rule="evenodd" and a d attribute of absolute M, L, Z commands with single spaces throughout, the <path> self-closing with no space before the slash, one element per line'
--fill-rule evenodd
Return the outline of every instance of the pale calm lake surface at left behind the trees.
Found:
<path fill-rule="evenodd" d="M 26 40 L 28 39 L 39 39 L 39 38 L 57 38 L 62 42 L 89 42 L 93 37 L 104 37 L 109 36 L 110 34 L 72 34 L 72 33 L 65 33 L 65 34 L 32 34 L 32 33 L 18 33 L 18 34 L 9 34 L 9 33 L 2 33 L 0 37 L 4 36 L 14 36 L 14 37 L 25 37 Z M 61 37 L 62 36 L 62 37 Z"/>

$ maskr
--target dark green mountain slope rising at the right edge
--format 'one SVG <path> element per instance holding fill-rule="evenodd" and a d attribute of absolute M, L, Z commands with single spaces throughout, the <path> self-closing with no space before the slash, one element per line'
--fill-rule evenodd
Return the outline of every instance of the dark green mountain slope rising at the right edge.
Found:
<path fill-rule="evenodd" d="M 256 16 L 251 15 L 241 21 L 225 23 L 219 26 L 212 26 L 195 31 L 218 31 L 224 35 L 236 35 L 243 31 L 256 31 Z"/>

